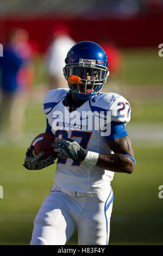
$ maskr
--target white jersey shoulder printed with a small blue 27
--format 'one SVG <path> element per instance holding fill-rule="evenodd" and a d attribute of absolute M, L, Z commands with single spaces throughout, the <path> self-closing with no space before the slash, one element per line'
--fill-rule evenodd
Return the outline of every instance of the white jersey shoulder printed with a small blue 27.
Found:
<path fill-rule="evenodd" d="M 130 120 L 130 104 L 121 95 L 116 93 L 99 93 L 95 101 L 90 102 L 92 111 L 111 111 L 111 121 L 128 123 Z"/>

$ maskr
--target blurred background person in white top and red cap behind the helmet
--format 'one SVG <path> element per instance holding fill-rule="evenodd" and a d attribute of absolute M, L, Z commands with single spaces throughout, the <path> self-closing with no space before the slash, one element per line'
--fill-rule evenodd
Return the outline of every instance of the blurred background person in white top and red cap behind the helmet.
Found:
<path fill-rule="evenodd" d="M 53 40 L 46 53 L 46 69 L 48 75 L 48 89 L 66 88 L 63 68 L 65 56 L 76 42 L 70 37 L 67 26 L 59 24 L 54 27 Z"/>

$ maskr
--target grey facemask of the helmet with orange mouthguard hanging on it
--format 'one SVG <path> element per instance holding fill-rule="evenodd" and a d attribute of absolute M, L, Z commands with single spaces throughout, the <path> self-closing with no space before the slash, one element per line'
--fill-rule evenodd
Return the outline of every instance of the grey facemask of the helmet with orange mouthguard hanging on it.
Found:
<path fill-rule="evenodd" d="M 79 63 L 66 64 L 63 71 L 71 91 L 79 99 L 85 100 L 101 92 L 109 76 L 106 66 L 89 59 L 79 59 Z"/>

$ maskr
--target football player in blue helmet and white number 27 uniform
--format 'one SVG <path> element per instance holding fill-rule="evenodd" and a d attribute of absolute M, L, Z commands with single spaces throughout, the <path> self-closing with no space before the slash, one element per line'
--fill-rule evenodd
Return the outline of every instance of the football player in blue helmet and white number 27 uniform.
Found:
<path fill-rule="evenodd" d="M 46 132 L 55 135 L 58 161 L 30 245 L 65 245 L 75 227 L 79 245 L 108 245 L 114 198 L 110 182 L 115 172 L 130 174 L 136 164 L 125 127 L 131 109 L 123 96 L 101 93 L 109 76 L 101 46 L 79 42 L 65 63 L 70 89 L 50 90 L 43 101 Z M 101 120 L 104 125 L 98 125 Z M 41 169 L 54 162 L 54 157 L 40 157 L 33 157 L 30 147 L 24 166 Z"/>

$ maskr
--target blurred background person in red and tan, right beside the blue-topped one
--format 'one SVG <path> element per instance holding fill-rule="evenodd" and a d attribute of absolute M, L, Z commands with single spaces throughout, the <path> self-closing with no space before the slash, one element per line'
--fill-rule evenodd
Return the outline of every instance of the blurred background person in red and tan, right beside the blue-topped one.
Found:
<path fill-rule="evenodd" d="M 22 137 L 26 123 L 26 108 L 34 80 L 33 57 L 36 48 L 29 42 L 29 34 L 24 29 L 15 29 L 12 32 L 12 49 L 22 59 L 22 66 L 17 74 L 17 93 L 11 108 L 11 125 L 9 135 L 17 141 Z"/>

